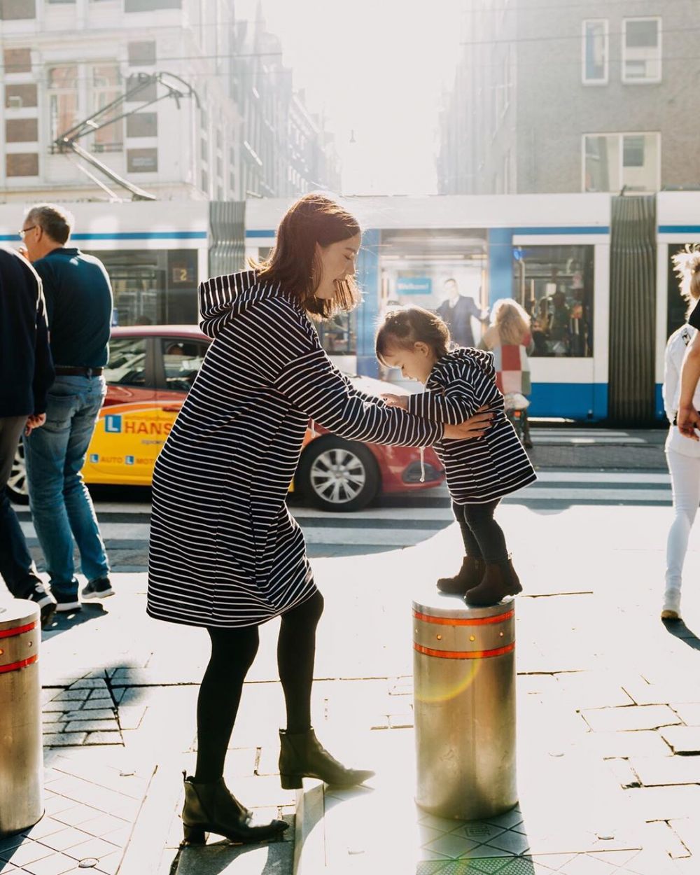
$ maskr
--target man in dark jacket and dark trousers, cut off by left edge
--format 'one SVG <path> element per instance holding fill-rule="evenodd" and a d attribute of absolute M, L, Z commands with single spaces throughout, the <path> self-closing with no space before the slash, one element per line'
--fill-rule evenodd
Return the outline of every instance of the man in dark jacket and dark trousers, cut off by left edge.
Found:
<path fill-rule="evenodd" d="M 42 626 L 56 602 L 31 561 L 6 486 L 22 432 L 45 422 L 52 381 L 41 281 L 21 255 L 0 248 L 0 576 L 13 596 L 38 604 Z"/>

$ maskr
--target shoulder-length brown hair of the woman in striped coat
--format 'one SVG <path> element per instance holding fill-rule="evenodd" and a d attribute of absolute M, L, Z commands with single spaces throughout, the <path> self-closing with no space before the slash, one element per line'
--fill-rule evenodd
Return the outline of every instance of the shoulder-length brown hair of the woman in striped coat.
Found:
<path fill-rule="evenodd" d="M 275 248 L 264 262 L 252 262 L 261 280 L 280 283 L 295 295 L 311 316 L 329 318 L 353 310 L 360 290 L 352 276 L 336 283 L 332 298 L 316 297 L 321 265 L 316 244 L 330 246 L 360 234 L 360 224 L 343 207 L 323 194 L 304 194 L 284 214 L 277 228 Z"/>

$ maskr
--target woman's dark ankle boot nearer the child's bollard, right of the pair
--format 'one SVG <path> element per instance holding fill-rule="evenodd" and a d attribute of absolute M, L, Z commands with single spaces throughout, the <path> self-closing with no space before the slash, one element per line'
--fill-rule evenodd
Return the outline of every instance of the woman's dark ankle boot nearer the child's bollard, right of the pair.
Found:
<path fill-rule="evenodd" d="M 279 741 L 279 775 L 285 790 L 301 788 L 302 778 L 318 778 L 336 787 L 353 787 L 374 774 L 341 765 L 320 745 L 312 729 L 294 733 L 281 729 Z"/>

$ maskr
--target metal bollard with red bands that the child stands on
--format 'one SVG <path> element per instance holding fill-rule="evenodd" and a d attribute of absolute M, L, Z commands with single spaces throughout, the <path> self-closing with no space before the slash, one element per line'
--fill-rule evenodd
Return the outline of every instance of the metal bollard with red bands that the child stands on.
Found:
<path fill-rule="evenodd" d="M 514 600 L 472 608 L 436 592 L 414 601 L 413 629 L 417 804 L 458 820 L 512 809 Z"/>

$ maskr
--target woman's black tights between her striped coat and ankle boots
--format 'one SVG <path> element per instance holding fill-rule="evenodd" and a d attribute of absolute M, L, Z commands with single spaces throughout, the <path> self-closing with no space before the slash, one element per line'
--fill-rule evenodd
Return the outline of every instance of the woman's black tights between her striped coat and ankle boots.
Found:
<path fill-rule="evenodd" d="M 277 639 L 277 667 L 287 710 L 287 731 L 311 729 L 311 683 L 316 654 L 316 627 L 323 596 L 316 592 L 283 613 Z M 197 700 L 197 771 L 195 781 L 217 781 L 224 770 L 243 681 L 257 653 L 258 627 L 208 628 L 212 655 Z"/>

